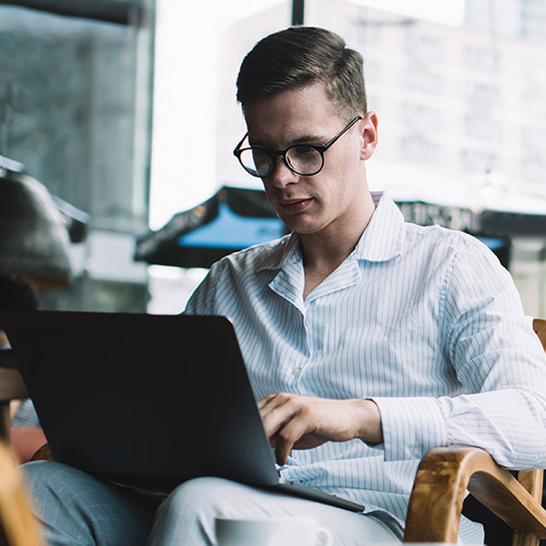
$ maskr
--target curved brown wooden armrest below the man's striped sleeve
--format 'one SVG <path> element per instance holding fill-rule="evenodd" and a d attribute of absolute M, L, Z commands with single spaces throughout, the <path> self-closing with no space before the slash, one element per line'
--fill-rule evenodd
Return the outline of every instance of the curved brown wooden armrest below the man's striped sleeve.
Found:
<path fill-rule="evenodd" d="M 536 496 L 486 451 L 450 447 L 430 450 L 420 462 L 404 542 L 456 543 L 467 489 L 515 531 L 546 538 L 546 511 Z"/>

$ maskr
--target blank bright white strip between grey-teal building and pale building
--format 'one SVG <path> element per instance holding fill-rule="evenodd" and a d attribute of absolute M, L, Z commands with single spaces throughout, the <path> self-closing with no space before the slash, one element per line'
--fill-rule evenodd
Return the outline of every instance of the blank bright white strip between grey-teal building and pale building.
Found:
<path fill-rule="evenodd" d="M 157 0 L 150 227 L 216 190 L 222 27 L 280 0 Z"/>

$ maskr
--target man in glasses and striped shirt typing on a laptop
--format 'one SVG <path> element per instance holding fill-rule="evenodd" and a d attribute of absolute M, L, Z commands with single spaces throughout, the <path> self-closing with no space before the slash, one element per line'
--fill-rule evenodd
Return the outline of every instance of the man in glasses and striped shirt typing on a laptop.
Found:
<path fill-rule="evenodd" d="M 336 544 L 398 543 L 430 448 L 546 466 L 546 362 L 510 275 L 476 239 L 407 224 L 369 192 L 378 120 L 359 54 L 323 29 L 269 35 L 238 100 L 248 134 L 234 153 L 292 234 L 220 260 L 187 313 L 233 322 L 281 474 L 366 510 L 214 478 L 159 504 L 31 463 L 51 544 L 212 544 L 218 516 L 311 516 Z M 481 539 L 462 522 L 461 543 Z"/>

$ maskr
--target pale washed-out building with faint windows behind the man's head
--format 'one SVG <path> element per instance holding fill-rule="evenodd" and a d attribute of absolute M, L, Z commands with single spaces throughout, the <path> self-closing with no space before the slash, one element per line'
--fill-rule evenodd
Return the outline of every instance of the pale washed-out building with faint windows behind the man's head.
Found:
<path fill-rule="evenodd" d="M 543 3 L 546 5 L 546 3 Z M 219 185 L 247 185 L 231 149 L 244 125 L 234 103 L 237 62 L 249 28 L 281 6 L 229 29 L 221 67 Z M 482 206 L 537 207 L 546 197 L 546 76 L 541 45 L 497 39 L 371 9 L 308 0 L 306 24 L 338 31 L 365 59 L 369 108 L 380 142 L 370 161 L 374 187 Z M 229 116 L 229 117 L 227 117 Z M 227 127 L 227 128 L 226 128 Z M 233 127 L 233 128 L 230 128 Z M 449 191 L 447 191 L 449 189 Z M 517 206 L 517 204 L 516 204 Z"/>

